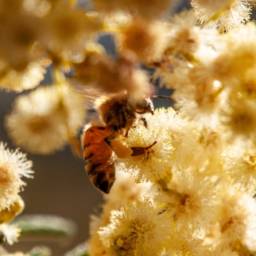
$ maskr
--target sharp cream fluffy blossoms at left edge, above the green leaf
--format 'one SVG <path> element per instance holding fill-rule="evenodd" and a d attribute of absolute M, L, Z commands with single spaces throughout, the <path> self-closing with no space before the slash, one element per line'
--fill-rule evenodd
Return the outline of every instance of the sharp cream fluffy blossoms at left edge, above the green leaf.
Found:
<path fill-rule="evenodd" d="M 22 177 L 32 178 L 32 162 L 18 149 L 10 151 L 0 143 L 0 233 L 9 244 L 17 241 L 20 229 L 9 224 L 24 209 L 19 192 L 26 185 Z M 3 243 L 2 241 L 2 243 Z"/>

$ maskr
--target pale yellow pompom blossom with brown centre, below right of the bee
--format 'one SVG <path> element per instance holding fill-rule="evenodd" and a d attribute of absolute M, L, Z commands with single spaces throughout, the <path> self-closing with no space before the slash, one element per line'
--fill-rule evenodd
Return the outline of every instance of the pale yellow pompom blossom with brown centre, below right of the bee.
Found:
<path fill-rule="evenodd" d="M 156 199 L 166 205 L 177 230 L 194 230 L 204 229 L 214 220 L 215 197 L 214 182 L 209 177 L 183 170 L 173 173 L 172 180 Z"/>

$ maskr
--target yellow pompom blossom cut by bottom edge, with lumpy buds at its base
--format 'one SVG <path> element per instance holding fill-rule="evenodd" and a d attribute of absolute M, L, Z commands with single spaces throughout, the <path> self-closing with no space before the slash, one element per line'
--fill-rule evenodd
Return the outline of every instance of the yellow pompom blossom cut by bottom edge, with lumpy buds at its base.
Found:
<path fill-rule="evenodd" d="M 170 239 L 175 227 L 171 218 L 148 198 L 127 204 L 116 211 L 111 223 L 101 228 L 100 238 L 106 244 L 106 255 L 158 255 Z"/>

